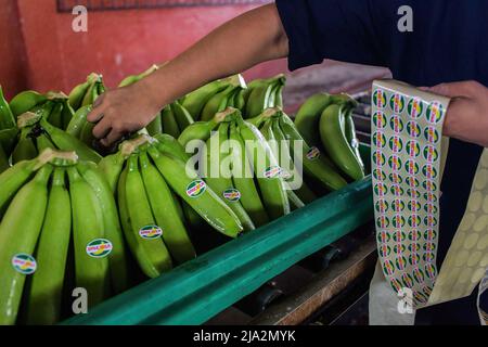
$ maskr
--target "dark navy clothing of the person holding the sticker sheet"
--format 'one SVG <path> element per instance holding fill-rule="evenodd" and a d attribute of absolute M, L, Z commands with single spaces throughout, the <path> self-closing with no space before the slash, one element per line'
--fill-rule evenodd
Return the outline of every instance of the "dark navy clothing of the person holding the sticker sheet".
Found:
<path fill-rule="evenodd" d="M 398 22 L 412 10 L 413 31 Z M 325 57 L 388 67 L 414 86 L 477 80 L 488 86 L 487 0 L 277 0 L 290 41 L 288 67 Z M 446 257 L 464 215 L 483 147 L 450 140 L 440 198 L 437 262 Z M 477 291 L 468 298 L 420 310 L 431 323 L 479 323 Z M 424 316 L 424 318 L 422 318 Z"/>

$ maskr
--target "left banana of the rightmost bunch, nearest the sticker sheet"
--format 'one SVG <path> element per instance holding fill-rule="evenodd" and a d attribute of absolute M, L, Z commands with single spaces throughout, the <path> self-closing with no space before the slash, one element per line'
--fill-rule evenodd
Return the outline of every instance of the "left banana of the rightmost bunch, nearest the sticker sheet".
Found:
<path fill-rule="evenodd" d="M 307 99 L 296 113 L 295 127 L 311 146 L 320 144 L 320 134 L 317 129 L 319 128 L 322 112 L 330 104 L 332 104 L 332 95 L 318 93 Z"/>

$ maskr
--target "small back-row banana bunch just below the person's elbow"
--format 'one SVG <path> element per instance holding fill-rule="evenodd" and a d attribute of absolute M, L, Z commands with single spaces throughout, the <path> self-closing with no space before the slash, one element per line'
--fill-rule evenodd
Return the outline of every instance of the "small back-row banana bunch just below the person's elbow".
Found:
<path fill-rule="evenodd" d="M 286 78 L 283 74 L 272 78 L 253 80 L 242 93 L 245 107 L 237 108 L 243 111 L 245 118 L 257 117 L 267 108 L 283 108 L 283 88 L 285 82 Z"/>

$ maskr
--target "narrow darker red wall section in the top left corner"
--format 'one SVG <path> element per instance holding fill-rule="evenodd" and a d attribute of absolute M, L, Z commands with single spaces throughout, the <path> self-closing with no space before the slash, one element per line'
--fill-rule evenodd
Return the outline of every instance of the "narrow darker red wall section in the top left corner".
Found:
<path fill-rule="evenodd" d="M 0 33 L 0 85 L 7 98 L 11 98 L 27 87 L 24 41 L 15 0 L 2 0 Z"/>

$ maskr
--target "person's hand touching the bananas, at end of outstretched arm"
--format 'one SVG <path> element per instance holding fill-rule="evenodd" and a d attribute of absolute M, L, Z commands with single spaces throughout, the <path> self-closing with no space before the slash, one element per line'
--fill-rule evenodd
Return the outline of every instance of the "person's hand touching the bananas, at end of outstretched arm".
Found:
<path fill-rule="evenodd" d="M 160 111 L 144 83 L 106 91 L 93 104 L 88 121 L 98 123 L 93 136 L 110 146 L 125 134 L 138 131 L 151 123 Z"/>

